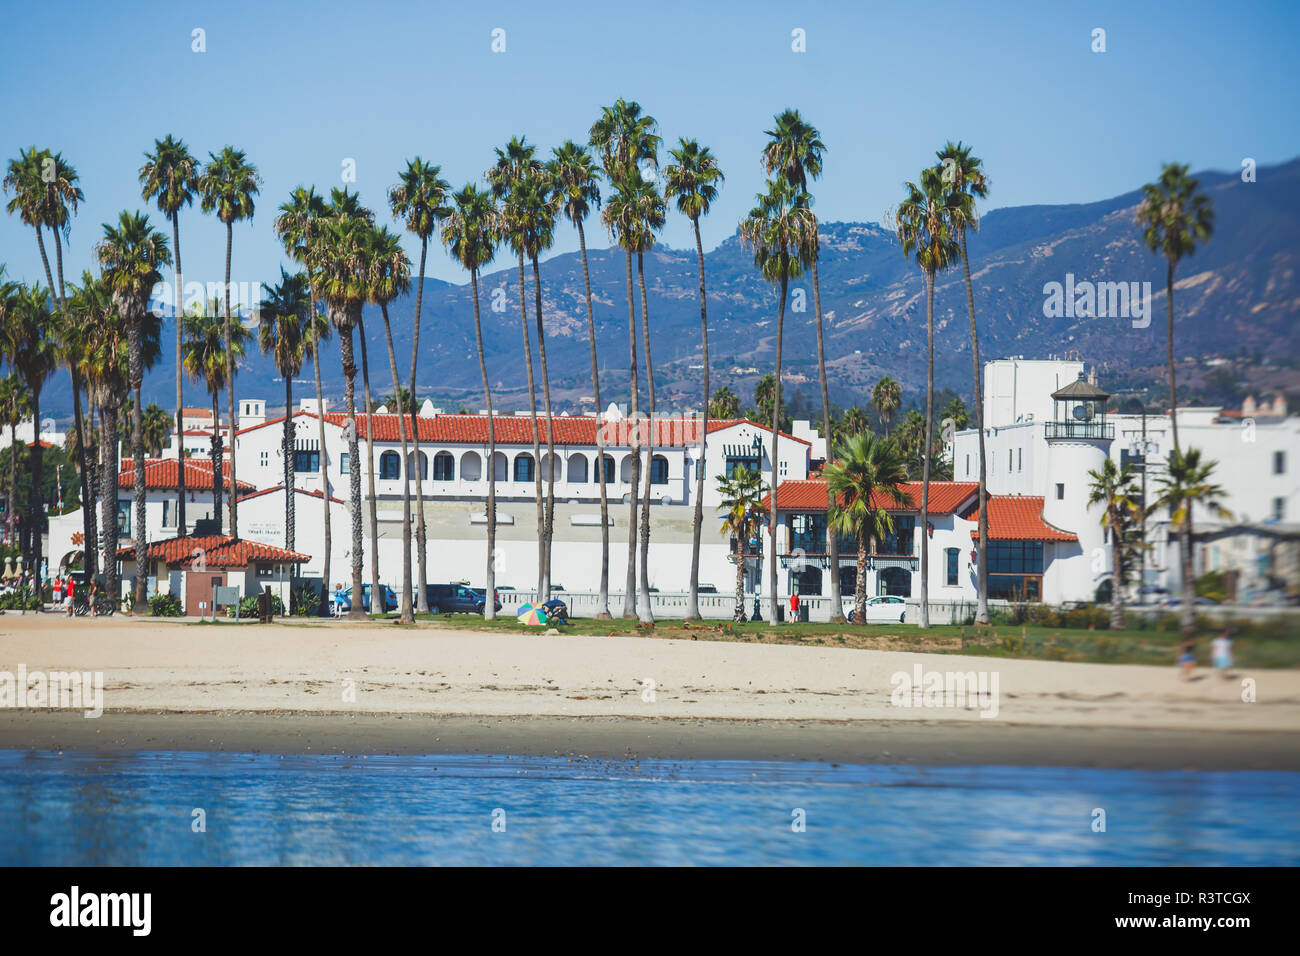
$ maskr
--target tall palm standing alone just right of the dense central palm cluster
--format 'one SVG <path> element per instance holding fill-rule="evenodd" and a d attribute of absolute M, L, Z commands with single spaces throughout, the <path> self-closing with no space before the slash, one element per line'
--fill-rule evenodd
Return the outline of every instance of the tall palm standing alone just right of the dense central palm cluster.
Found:
<path fill-rule="evenodd" d="M 727 177 L 718 160 L 694 139 L 681 139 L 670 150 L 672 164 L 664 170 L 664 199 L 677 200 L 677 212 L 690 220 L 696 232 L 696 261 L 699 267 L 699 342 L 705 364 L 703 421 L 699 423 L 699 464 L 696 468 L 696 518 L 690 536 L 690 593 L 686 596 L 686 618 L 699 618 L 699 536 L 705 524 L 705 468 L 708 441 L 708 300 L 705 290 L 705 246 L 699 238 L 699 217 L 707 216 L 718 183 Z M 599 407 L 599 402 L 597 403 Z"/>

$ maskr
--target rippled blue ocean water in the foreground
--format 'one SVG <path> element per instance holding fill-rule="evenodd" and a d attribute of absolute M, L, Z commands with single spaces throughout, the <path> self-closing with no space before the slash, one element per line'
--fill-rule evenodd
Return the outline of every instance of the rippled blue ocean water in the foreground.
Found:
<path fill-rule="evenodd" d="M 1295 866 L 1297 808 L 1271 771 L 0 750 L 5 866 Z"/>

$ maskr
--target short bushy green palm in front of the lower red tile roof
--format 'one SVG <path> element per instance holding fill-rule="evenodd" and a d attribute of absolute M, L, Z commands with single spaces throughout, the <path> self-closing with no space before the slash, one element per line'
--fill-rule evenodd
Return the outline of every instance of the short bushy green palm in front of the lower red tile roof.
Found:
<path fill-rule="evenodd" d="M 889 507 L 913 507 L 902 485 L 907 466 L 889 438 L 871 432 L 852 434 L 836 446 L 836 460 L 826 468 L 831 494 L 827 528 L 831 535 L 850 535 L 858 542 L 858 575 L 854 588 L 854 620 L 866 620 L 867 554 L 875 542 L 893 532 Z"/>

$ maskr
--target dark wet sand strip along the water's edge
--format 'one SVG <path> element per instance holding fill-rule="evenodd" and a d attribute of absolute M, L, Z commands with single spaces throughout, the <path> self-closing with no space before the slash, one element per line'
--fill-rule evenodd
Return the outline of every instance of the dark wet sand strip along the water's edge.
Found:
<path fill-rule="evenodd" d="M 916 766 L 1300 771 L 1300 735 L 978 721 L 754 721 L 344 711 L 0 713 L 0 749 L 511 754 Z"/>

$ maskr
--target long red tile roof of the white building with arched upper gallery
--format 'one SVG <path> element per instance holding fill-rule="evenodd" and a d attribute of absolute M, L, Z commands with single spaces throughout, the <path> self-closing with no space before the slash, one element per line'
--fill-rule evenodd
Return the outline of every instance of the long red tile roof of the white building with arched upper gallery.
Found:
<path fill-rule="evenodd" d="M 295 411 L 294 416 L 306 415 L 307 418 L 317 418 L 315 412 L 309 411 Z M 374 441 L 381 442 L 398 442 L 402 441 L 402 433 L 406 437 L 411 437 L 411 416 L 410 415 L 370 415 L 374 421 Z M 347 415 L 342 412 L 326 412 L 325 420 L 332 425 L 339 428 L 347 421 Z M 283 416 L 270 419 L 269 421 L 263 421 L 256 425 L 250 425 L 248 428 L 240 428 L 237 436 L 247 434 L 259 428 L 269 428 L 272 425 L 282 425 L 285 421 Z M 429 442 L 430 445 L 482 445 L 488 441 L 488 416 L 486 415 L 432 415 L 432 416 L 417 416 L 420 428 L 420 441 Z M 586 415 L 578 416 L 554 416 L 551 419 L 554 441 L 556 445 L 586 445 L 594 446 L 597 444 L 597 437 L 604 429 L 604 442 L 607 445 L 614 445 L 621 447 L 629 444 L 632 438 L 632 425 L 628 421 L 604 421 L 603 419 L 589 418 Z M 732 425 L 753 425 L 764 432 L 771 432 L 771 428 L 758 424 L 757 421 L 750 421 L 748 419 L 710 419 L 708 420 L 708 433 L 722 431 L 724 428 L 731 428 Z M 356 437 L 365 440 L 367 418 L 364 414 L 358 414 L 356 416 Z M 493 429 L 495 432 L 495 438 L 502 445 L 532 445 L 533 444 L 533 420 L 529 415 L 493 415 Z M 537 420 L 537 433 L 538 442 L 546 442 L 546 416 L 540 415 Z M 664 418 L 655 419 L 654 432 L 651 433 L 649 423 L 641 423 L 641 441 L 645 442 L 647 438 L 653 438 L 654 444 L 660 447 L 681 447 L 684 445 L 693 445 L 699 441 L 699 421 L 692 418 Z M 781 438 L 786 441 L 796 441 L 801 445 L 809 445 L 810 442 L 805 438 L 796 438 L 793 434 L 781 432 Z"/>

